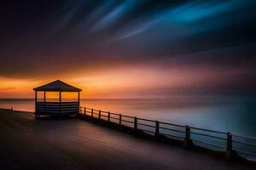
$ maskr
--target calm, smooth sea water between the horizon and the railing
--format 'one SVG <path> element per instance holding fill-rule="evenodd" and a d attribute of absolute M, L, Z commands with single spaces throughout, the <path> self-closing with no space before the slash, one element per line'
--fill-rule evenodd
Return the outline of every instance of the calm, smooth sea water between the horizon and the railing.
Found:
<path fill-rule="evenodd" d="M 256 96 L 81 99 L 81 106 L 256 137 Z M 34 111 L 33 99 L 0 99 L 0 108 Z"/>

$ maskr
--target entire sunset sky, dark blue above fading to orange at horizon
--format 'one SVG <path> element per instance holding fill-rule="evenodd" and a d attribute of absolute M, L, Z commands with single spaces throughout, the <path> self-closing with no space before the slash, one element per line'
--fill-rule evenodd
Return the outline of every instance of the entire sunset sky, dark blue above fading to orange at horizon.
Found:
<path fill-rule="evenodd" d="M 256 94 L 256 1 L 9 0 L 0 98 L 61 79 L 82 98 Z"/>

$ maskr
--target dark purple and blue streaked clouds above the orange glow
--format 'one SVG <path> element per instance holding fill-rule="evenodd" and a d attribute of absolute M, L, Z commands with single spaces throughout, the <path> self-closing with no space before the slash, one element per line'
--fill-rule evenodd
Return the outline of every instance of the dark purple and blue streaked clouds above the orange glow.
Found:
<path fill-rule="evenodd" d="M 134 63 L 255 71 L 255 7 L 250 0 L 6 1 L 0 77 Z"/>

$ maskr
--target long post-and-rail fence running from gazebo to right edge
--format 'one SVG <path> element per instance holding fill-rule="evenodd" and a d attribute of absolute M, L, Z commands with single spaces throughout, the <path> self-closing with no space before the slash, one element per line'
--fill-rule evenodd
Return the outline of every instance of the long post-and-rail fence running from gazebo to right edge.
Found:
<path fill-rule="evenodd" d="M 236 152 L 255 160 L 256 138 L 241 136 L 230 132 L 220 132 L 189 125 L 180 125 L 170 122 L 160 122 L 144 119 L 137 116 L 125 116 L 109 111 L 100 111 L 88 107 L 80 107 L 79 114 L 96 119 L 113 122 L 122 126 L 131 127 L 154 135 L 156 138 L 166 137 L 183 142 L 186 147 L 191 144 L 199 145 L 211 150 L 225 151 L 226 156 L 233 156 Z"/>

